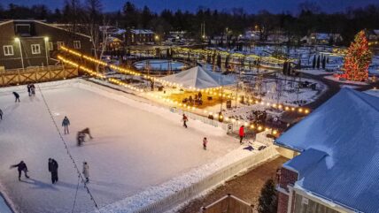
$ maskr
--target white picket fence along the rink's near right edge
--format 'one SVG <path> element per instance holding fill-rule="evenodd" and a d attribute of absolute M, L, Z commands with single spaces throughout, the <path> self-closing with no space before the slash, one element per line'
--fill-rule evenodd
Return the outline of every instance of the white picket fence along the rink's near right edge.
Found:
<path fill-rule="evenodd" d="M 198 195 L 205 193 L 205 191 L 212 189 L 215 186 L 219 186 L 224 181 L 233 178 L 238 173 L 246 171 L 250 168 L 256 167 L 259 164 L 266 162 L 269 159 L 278 156 L 276 146 L 271 145 L 263 150 L 260 150 L 256 154 L 246 156 L 241 160 L 236 161 L 233 164 L 214 172 L 212 175 L 200 180 L 191 186 L 185 187 L 174 194 L 168 195 L 158 202 L 151 203 L 139 210 L 136 213 L 160 213 L 174 208 L 177 208 L 185 202 L 190 202 Z"/>

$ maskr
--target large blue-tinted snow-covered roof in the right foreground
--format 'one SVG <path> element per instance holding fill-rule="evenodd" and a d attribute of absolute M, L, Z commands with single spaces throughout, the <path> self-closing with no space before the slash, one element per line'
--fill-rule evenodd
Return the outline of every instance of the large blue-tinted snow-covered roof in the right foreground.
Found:
<path fill-rule="evenodd" d="M 379 98 L 351 88 L 314 110 L 275 143 L 302 152 L 284 164 L 297 184 L 340 206 L 379 212 Z"/>

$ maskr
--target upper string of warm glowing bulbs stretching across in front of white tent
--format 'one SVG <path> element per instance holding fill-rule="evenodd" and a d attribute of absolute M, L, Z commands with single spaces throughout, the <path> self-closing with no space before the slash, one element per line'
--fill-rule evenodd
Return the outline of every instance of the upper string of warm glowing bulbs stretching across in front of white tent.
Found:
<path fill-rule="evenodd" d="M 65 50 L 66 52 L 68 53 L 71 53 L 73 54 L 74 56 L 77 56 L 77 57 L 82 57 L 86 60 L 88 60 L 89 62 L 92 62 L 92 63 L 95 63 L 95 64 L 98 64 L 98 65 L 104 65 L 104 66 L 109 66 L 110 68 L 112 68 L 113 70 L 117 71 L 117 72 L 120 72 L 120 73 L 125 73 L 125 74 L 131 74 L 131 75 L 135 75 L 135 76 L 143 76 L 143 78 L 147 79 L 147 80 L 154 80 L 154 81 L 157 81 L 159 83 L 161 83 L 162 85 L 164 86 L 167 86 L 167 87 L 178 87 L 178 88 L 182 88 L 183 90 L 190 90 L 190 91 L 197 91 L 197 92 L 201 92 L 201 93 L 205 93 L 205 94 L 208 94 L 208 95 L 215 95 L 215 96 L 220 96 L 220 97 L 223 97 L 223 98 L 227 98 L 227 99 L 233 99 L 233 98 L 236 98 L 234 95 L 225 95 L 223 93 L 220 93 L 218 90 L 221 89 L 221 87 L 212 87 L 212 88 L 196 88 L 196 87 L 183 87 L 182 84 L 178 84 L 178 83 L 174 83 L 174 82 L 170 82 L 170 81 L 167 81 L 167 80 L 161 80 L 157 77 L 154 77 L 154 76 L 151 76 L 151 75 L 147 75 L 147 74 L 143 74 L 141 72 L 135 72 L 135 71 L 132 71 L 130 69 L 126 69 L 126 68 L 122 68 L 120 66 L 117 66 L 117 65 L 108 65 L 107 63 L 105 63 L 104 61 L 101 61 L 101 60 L 98 60 L 94 57 L 89 57 L 89 56 L 85 56 L 73 49 L 68 49 L 64 46 L 61 46 L 60 49 L 62 50 Z M 97 72 L 93 73 L 93 75 L 97 74 Z M 97 76 L 99 77 L 99 76 Z M 100 78 L 105 78 L 104 75 L 102 75 Z M 128 85 L 128 87 L 132 87 L 130 85 Z M 133 90 L 135 91 L 138 91 L 137 88 L 134 88 Z M 237 98 L 237 101 L 241 101 L 242 99 L 240 97 Z M 272 102 L 269 102 L 269 101 L 263 101 L 263 100 L 259 100 L 257 98 L 249 98 L 246 100 L 247 102 L 249 103 L 255 103 L 255 104 L 260 104 L 260 105 L 263 105 L 263 106 L 268 106 L 268 107 L 272 107 L 276 110 L 285 110 L 285 111 L 292 111 L 292 112 L 298 112 L 298 113 L 304 113 L 304 114 L 308 114 L 310 112 L 309 109 L 307 108 L 304 108 L 304 107 L 294 107 L 294 106 L 289 106 L 289 105 L 285 105 L 283 103 L 272 103 Z"/>

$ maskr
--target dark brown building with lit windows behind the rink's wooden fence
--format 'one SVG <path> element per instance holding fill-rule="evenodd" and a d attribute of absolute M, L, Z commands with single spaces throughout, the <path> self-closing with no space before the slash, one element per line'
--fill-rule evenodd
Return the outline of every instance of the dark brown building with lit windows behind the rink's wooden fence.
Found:
<path fill-rule="evenodd" d="M 57 65 L 60 46 L 91 54 L 90 37 L 38 20 L 0 22 L 0 70 Z"/>

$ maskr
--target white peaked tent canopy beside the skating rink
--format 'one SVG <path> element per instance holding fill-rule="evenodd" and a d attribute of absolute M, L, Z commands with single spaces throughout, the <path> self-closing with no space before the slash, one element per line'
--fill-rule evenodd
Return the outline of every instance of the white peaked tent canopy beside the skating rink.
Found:
<path fill-rule="evenodd" d="M 189 70 L 169 75 L 161 80 L 171 83 L 181 84 L 187 88 L 209 88 L 232 85 L 236 82 L 234 76 L 222 75 L 218 72 L 206 71 L 200 66 L 195 66 Z"/>

